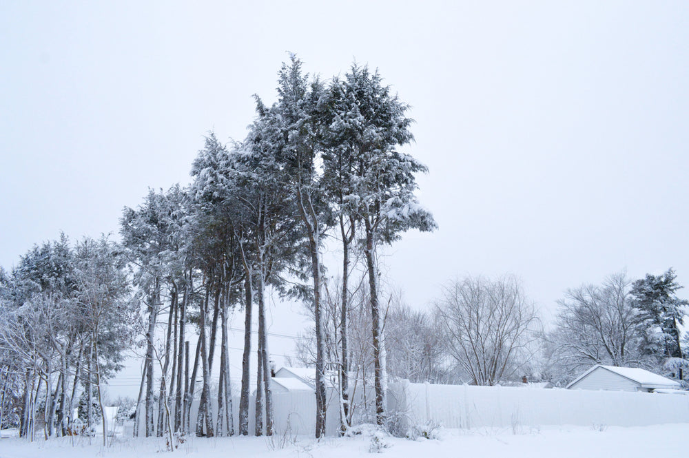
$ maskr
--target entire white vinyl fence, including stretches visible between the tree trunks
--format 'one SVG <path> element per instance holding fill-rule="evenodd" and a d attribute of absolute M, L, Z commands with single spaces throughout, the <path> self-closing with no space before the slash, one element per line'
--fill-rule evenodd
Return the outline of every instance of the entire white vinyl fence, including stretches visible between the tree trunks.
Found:
<path fill-rule="evenodd" d="M 369 398 L 373 393 L 370 393 Z M 326 434 L 335 436 L 340 424 L 338 397 L 328 390 Z M 362 393 L 353 400 L 355 422 L 375 421 L 373 399 L 364 408 Z M 316 430 L 316 395 L 308 391 L 274 393 L 276 435 L 313 435 Z M 254 435 L 255 399 L 249 399 L 249 435 Z M 217 400 L 211 401 L 213 418 Z M 515 426 L 646 426 L 689 422 L 689 396 L 584 391 L 506 386 L 412 384 L 403 380 L 389 385 L 388 406 L 398 433 L 432 420 L 446 428 L 505 428 Z M 239 425 L 239 398 L 232 401 L 235 432 Z M 139 434 L 144 435 L 143 405 Z M 157 408 L 155 409 L 157 414 Z M 198 399 L 192 405 L 189 425 L 196 428 Z M 213 422 L 215 424 L 215 421 Z M 264 428 L 265 433 L 265 428 Z M 128 433 L 131 434 L 131 430 Z"/>

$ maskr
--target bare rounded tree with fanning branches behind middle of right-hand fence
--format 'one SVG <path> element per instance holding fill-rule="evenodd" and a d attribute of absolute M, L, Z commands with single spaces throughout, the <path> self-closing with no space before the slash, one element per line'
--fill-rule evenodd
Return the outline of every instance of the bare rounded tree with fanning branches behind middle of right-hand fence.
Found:
<path fill-rule="evenodd" d="M 513 375 L 539 324 L 535 306 L 510 276 L 455 280 L 436 309 L 446 351 L 477 385 Z"/>

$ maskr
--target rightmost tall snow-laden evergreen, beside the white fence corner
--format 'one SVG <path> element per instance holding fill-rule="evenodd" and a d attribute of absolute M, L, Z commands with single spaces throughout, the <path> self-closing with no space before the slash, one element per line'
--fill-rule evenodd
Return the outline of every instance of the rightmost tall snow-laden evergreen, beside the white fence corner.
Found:
<path fill-rule="evenodd" d="M 351 149 L 356 164 L 350 194 L 343 198 L 364 225 L 364 255 L 371 298 L 373 360 L 375 364 L 376 421 L 385 424 L 387 375 L 383 317 L 378 297 L 380 243 L 392 243 L 408 229 L 432 231 L 435 221 L 415 196 L 415 174 L 426 166 L 397 150 L 413 140 L 407 117 L 409 106 L 391 94 L 378 72 L 352 65 L 345 78 L 332 83 L 329 101 L 331 136 Z M 336 157 L 336 156 L 333 156 Z"/>

